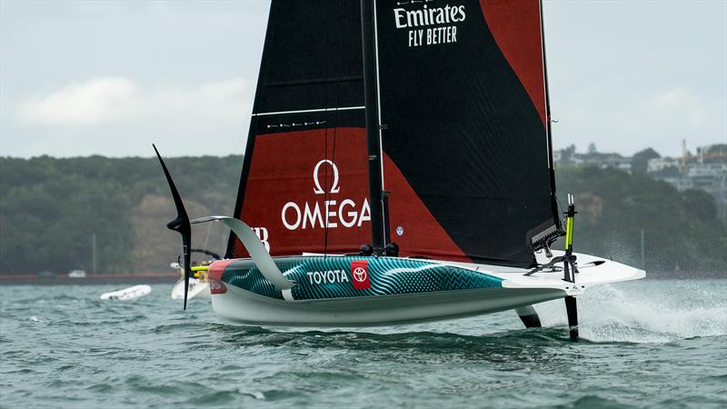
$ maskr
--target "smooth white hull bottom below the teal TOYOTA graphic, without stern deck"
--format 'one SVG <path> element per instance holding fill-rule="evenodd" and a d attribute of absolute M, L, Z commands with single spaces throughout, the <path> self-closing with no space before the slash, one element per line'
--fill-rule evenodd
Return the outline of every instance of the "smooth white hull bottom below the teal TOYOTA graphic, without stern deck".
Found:
<path fill-rule="evenodd" d="M 563 296 L 553 289 L 487 288 L 288 302 L 228 287 L 213 295 L 212 306 L 228 324 L 375 326 L 491 314 Z"/>

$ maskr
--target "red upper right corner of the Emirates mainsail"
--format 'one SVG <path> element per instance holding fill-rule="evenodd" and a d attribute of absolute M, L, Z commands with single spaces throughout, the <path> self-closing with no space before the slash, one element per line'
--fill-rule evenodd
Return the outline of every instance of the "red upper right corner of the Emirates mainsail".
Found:
<path fill-rule="evenodd" d="M 480 0 L 495 42 L 545 124 L 543 32 L 539 0 Z"/>

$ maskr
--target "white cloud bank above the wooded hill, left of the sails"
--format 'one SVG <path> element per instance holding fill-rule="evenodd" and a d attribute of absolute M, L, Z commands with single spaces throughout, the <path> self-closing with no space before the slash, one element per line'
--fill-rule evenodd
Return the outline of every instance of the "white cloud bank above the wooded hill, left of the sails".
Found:
<path fill-rule="evenodd" d="M 146 86 L 103 76 L 21 97 L 0 121 L 0 155 L 151 155 L 153 142 L 166 156 L 239 155 L 250 123 L 251 84 L 233 77 Z"/>

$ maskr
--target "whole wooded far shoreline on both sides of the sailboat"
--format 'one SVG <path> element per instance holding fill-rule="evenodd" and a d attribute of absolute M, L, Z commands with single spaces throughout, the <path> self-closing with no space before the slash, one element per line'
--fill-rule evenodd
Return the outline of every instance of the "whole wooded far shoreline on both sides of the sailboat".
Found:
<path fill-rule="evenodd" d="M 167 165 L 193 217 L 233 213 L 242 156 L 170 158 Z M 725 270 L 727 227 L 711 195 L 615 169 L 564 166 L 556 179 L 561 203 L 572 193 L 580 212 L 577 252 L 641 266 L 643 231 L 649 271 Z M 155 158 L 0 157 L 0 273 L 91 271 L 94 234 L 98 272 L 168 269 L 179 253 L 178 236 L 164 227 L 174 215 Z M 194 240 L 224 252 L 224 233 L 210 232 L 195 232 Z"/>

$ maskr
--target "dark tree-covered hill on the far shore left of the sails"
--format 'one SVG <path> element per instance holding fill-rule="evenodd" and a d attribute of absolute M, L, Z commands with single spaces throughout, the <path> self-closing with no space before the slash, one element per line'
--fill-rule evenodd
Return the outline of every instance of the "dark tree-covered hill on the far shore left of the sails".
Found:
<path fill-rule="evenodd" d="M 178 157 L 166 163 L 185 201 L 232 214 L 242 156 Z M 169 195 L 155 158 L 0 157 L 0 273 L 91 272 L 94 234 L 97 272 L 133 272 L 140 265 L 168 269 L 179 253 L 178 237 L 164 228 L 175 216 Z M 154 205 L 145 200 L 150 197 L 164 198 L 163 212 L 144 209 Z M 139 214 L 151 214 L 151 220 Z M 154 233 L 139 234 L 149 224 Z M 144 251 L 158 235 L 174 247 L 163 255 Z"/>

